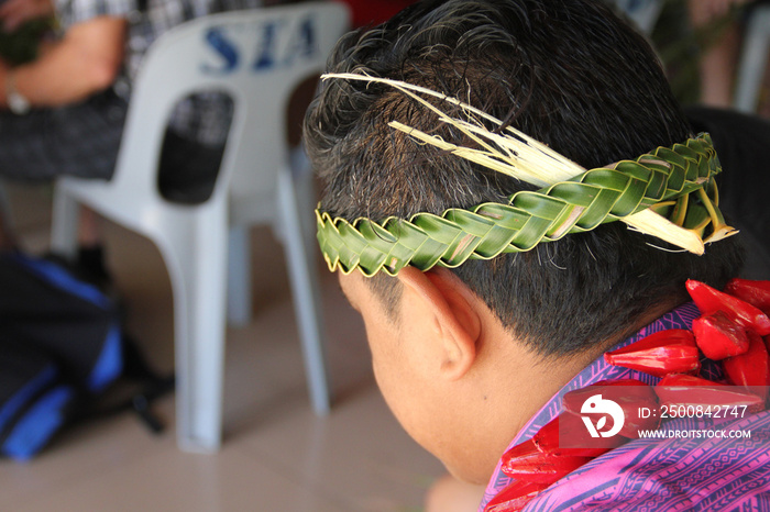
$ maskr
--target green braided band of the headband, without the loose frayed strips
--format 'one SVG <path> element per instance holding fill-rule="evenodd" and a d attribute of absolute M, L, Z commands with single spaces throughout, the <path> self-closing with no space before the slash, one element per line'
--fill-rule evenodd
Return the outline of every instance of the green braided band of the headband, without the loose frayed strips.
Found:
<path fill-rule="evenodd" d="M 569 181 L 516 192 L 507 203 L 352 223 L 316 210 L 318 242 L 329 269 L 343 274 L 359 268 L 364 276 L 380 270 L 393 276 L 406 265 L 420 270 L 457 267 L 469 258 L 529 251 L 695 192 L 721 170 L 711 136 L 704 133 Z"/>

